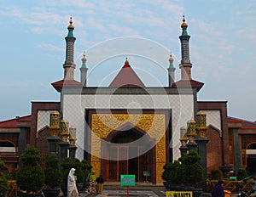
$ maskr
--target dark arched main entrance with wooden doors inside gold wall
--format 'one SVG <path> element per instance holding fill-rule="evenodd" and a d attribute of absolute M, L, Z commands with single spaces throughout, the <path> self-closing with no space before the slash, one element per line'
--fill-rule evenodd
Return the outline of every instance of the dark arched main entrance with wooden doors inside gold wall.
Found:
<path fill-rule="evenodd" d="M 143 137 L 137 143 L 137 139 Z M 137 182 L 144 182 L 143 172 L 153 172 L 153 149 L 147 150 L 153 140 L 137 127 L 113 131 L 108 135 L 107 181 L 119 181 L 121 174 L 135 174 Z"/>

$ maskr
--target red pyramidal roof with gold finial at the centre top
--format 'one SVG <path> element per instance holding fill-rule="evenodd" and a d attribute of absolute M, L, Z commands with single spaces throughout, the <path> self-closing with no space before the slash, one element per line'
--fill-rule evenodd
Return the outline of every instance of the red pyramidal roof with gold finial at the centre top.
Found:
<path fill-rule="evenodd" d="M 145 87 L 136 72 L 132 70 L 128 60 L 125 60 L 125 65 L 119 71 L 118 75 L 114 77 L 109 87 Z"/>

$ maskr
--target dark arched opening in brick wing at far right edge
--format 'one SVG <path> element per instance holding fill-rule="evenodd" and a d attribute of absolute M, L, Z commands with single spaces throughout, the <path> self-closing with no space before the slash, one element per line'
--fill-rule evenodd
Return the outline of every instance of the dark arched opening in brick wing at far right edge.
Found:
<path fill-rule="evenodd" d="M 256 172 L 256 143 L 249 144 L 246 150 L 247 154 L 247 171 Z"/>

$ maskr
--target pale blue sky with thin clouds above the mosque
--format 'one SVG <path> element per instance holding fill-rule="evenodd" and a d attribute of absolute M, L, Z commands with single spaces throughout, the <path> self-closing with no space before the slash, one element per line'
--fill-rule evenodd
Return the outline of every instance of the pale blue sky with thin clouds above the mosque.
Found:
<path fill-rule="evenodd" d="M 200 101 L 227 101 L 228 115 L 256 121 L 255 0 L 0 0 L 0 121 L 59 101 L 65 37 L 73 17 L 75 80 L 83 53 L 88 86 L 108 86 L 125 58 L 146 86 L 167 86 L 169 55 L 180 79 L 180 25 L 189 25 L 192 78 Z M 152 80 L 154 79 L 154 80 Z"/>

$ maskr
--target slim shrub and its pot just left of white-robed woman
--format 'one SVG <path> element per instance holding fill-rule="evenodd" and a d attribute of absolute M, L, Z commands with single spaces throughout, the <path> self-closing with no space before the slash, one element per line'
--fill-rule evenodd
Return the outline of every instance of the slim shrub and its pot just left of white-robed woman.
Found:
<path fill-rule="evenodd" d="M 45 197 L 56 197 L 60 194 L 62 183 L 62 172 L 59 169 L 59 160 L 54 155 L 49 155 L 45 160 L 45 186 L 43 189 Z"/>

